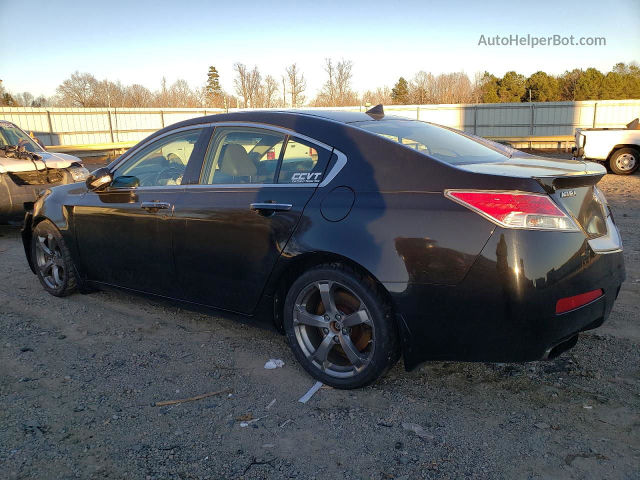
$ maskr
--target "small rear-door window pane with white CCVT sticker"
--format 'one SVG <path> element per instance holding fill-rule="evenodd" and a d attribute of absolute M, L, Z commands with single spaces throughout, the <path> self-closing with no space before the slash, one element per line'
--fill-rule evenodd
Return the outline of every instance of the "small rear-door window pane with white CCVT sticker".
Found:
<path fill-rule="evenodd" d="M 313 143 L 289 137 L 278 173 L 278 183 L 319 183 L 331 152 Z"/>

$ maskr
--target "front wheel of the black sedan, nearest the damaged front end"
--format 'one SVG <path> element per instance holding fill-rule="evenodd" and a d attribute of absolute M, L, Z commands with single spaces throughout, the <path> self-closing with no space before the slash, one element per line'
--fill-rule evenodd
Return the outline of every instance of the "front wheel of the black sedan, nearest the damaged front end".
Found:
<path fill-rule="evenodd" d="M 44 289 L 56 297 L 77 291 L 76 268 L 58 228 L 43 220 L 33 228 L 31 260 Z"/>

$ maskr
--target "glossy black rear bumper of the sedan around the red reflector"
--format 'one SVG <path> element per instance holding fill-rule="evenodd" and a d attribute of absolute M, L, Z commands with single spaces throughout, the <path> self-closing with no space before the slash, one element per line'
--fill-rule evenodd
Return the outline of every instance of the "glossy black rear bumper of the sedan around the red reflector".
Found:
<path fill-rule="evenodd" d="M 412 369 L 426 360 L 555 356 L 607 319 L 624 279 L 622 252 L 595 253 L 581 234 L 497 228 L 460 284 L 384 285 Z M 595 289 L 604 296 L 556 314 L 559 299 Z"/>

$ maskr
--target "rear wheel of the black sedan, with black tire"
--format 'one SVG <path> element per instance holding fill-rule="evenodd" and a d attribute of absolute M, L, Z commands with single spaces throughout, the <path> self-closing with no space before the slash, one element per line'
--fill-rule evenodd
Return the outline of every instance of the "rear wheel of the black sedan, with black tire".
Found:
<path fill-rule="evenodd" d="M 320 300 L 320 289 L 314 290 L 320 284 L 332 285 L 324 288 L 333 289 L 334 311 L 337 312 L 336 317 L 340 317 L 340 321 L 344 321 L 345 325 L 341 326 L 339 322 L 333 321 L 333 318 L 330 319 L 329 312 Z M 301 296 L 305 295 L 310 297 L 302 307 L 299 302 Z M 359 306 L 352 308 L 356 301 Z M 311 307 L 309 307 L 310 304 Z M 316 324 L 303 324 L 304 322 L 301 322 L 298 316 L 298 312 L 303 311 L 299 310 L 300 308 L 304 308 L 305 312 L 309 312 L 307 309 L 311 308 L 311 317 L 314 319 L 324 321 L 330 319 L 330 328 L 321 328 Z M 343 311 L 349 308 L 351 308 L 350 312 Z M 361 310 L 365 313 L 362 314 Z M 294 312 L 296 312 L 295 321 Z M 367 320 L 344 328 L 349 322 L 349 314 L 354 314 L 353 317 L 355 317 L 356 313 L 358 317 L 362 314 L 362 317 Z M 291 285 L 284 304 L 284 329 L 289 346 L 303 368 L 317 380 L 334 388 L 365 387 L 393 367 L 400 356 L 397 326 L 392 317 L 390 305 L 381 294 L 379 285 L 342 264 L 316 266 L 303 273 Z M 335 340 L 335 345 L 332 342 L 327 343 L 331 346 L 328 347 L 328 353 L 324 355 L 326 361 L 322 361 L 320 365 L 316 361 L 317 352 L 321 350 L 321 344 L 330 335 L 333 337 L 329 340 Z M 342 342 L 346 339 L 349 339 L 350 343 L 343 344 Z M 315 350 L 310 348 L 313 346 L 313 340 L 316 342 Z M 366 346 L 362 348 L 365 341 Z M 349 352 L 349 346 L 356 348 Z M 351 362 L 352 357 L 349 353 L 358 355 L 355 362 Z M 332 358 L 331 361 L 329 361 L 330 358 Z M 360 358 L 363 358 L 364 362 L 358 369 L 355 364 L 360 362 Z M 351 371 L 349 371 L 350 366 Z M 340 371 L 334 371 L 334 369 Z"/>

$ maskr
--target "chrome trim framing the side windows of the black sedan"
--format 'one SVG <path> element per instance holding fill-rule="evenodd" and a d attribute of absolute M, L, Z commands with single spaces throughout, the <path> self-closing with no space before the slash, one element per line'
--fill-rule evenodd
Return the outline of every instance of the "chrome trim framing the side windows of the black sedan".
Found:
<path fill-rule="evenodd" d="M 342 170 L 342 168 L 344 168 L 344 166 L 347 163 L 347 156 L 345 154 L 343 154 L 342 152 L 340 152 L 340 150 L 338 150 L 337 148 L 333 148 L 330 145 L 327 145 L 326 143 L 323 143 L 319 140 L 315 140 L 314 138 L 310 138 L 306 135 L 300 134 L 298 132 L 295 132 L 291 129 L 285 129 L 284 127 L 276 127 L 275 125 L 268 125 L 268 124 L 260 124 L 259 122 L 206 122 L 203 124 L 194 124 L 194 125 L 187 125 L 185 127 L 180 127 L 177 129 L 173 129 L 170 130 L 168 132 L 164 132 L 161 135 L 158 135 L 148 141 L 145 141 L 144 143 L 141 143 L 139 145 L 136 145 L 135 147 L 127 150 L 127 152 L 125 154 L 122 155 L 122 157 L 120 157 L 120 161 L 118 161 L 118 163 L 116 163 L 113 168 L 111 168 L 111 172 L 115 172 L 115 170 L 117 170 L 118 168 L 120 168 L 120 166 L 127 161 L 132 155 L 136 154 L 136 152 L 140 151 L 141 149 L 147 147 L 147 145 L 150 145 L 150 143 L 156 141 L 156 140 L 160 140 L 161 138 L 164 138 L 168 135 L 172 135 L 174 133 L 179 133 L 182 131 L 186 131 L 186 130 L 196 130 L 196 129 L 206 129 L 209 127 L 249 127 L 249 128 L 259 128 L 259 129 L 263 129 L 263 130 L 271 130 L 271 131 L 275 131 L 275 132 L 279 132 L 279 133 L 284 133 L 286 135 L 289 136 L 294 136 L 296 138 L 300 138 L 300 140 L 305 140 L 308 141 L 310 143 L 313 143 L 314 145 L 317 145 L 318 147 L 324 148 L 324 150 L 328 150 L 329 152 L 332 152 L 334 154 L 336 154 L 336 156 L 338 157 L 335 165 L 333 165 L 332 169 L 326 173 L 326 175 L 324 176 L 324 179 L 322 180 L 322 182 L 320 182 L 319 184 L 317 183 L 309 183 L 309 184 L 303 184 L 303 183 L 272 183 L 272 184 L 207 184 L 207 185 L 201 185 L 201 184 L 189 184 L 189 185 L 170 185 L 170 187 L 186 187 L 186 188 L 248 188 L 248 186 L 250 185 L 255 185 L 256 187 L 252 187 L 252 188 L 262 188 L 262 187 L 287 187 L 287 188 L 321 188 L 321 187 L 325 187 L 327 186 L 334 178 L 335 176 L 340 172 L 340 170 Z M 329 161 L 331 161 L 331 157 L 329 159 Z M 204 166 L 204 165 L 203 165 Z M 167 186 L 148 186 L 148 187 L 136 187 L 134 189 L 138 190 L 138 189 L 156 189 L 156 188 L 167 188 Z"/>

